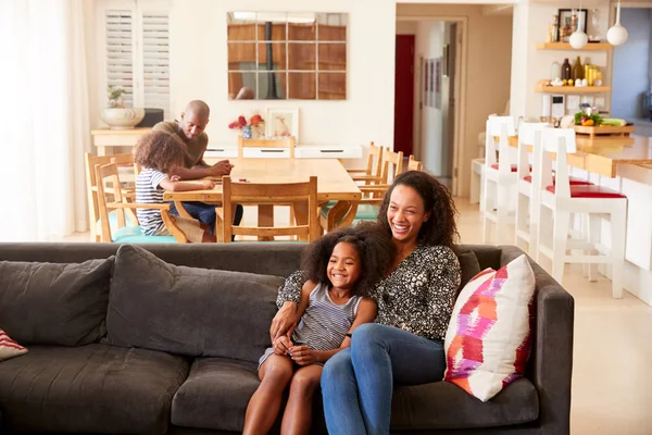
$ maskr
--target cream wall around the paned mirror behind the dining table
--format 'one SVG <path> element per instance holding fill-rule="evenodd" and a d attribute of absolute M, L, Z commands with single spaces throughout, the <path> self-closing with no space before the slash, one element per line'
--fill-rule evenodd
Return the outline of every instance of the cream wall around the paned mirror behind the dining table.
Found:
<path fill-rule="evenodd" d="M 348 12 L 346 101 L 229 101 L 226 13 L 229 11 Z M 373 13 L 372 13 L 373 11 Z M 379 32 L 381 29 L 381 32 Z M 211 142 L 230 142 L 227 124 L 267 107 L 299 108 L 302 145 L 392 145 L 396 2 L 393 0 L 175 0 L 171 14 L 172 107 L 178 113 L 191 99 L 211 111 Z"/>

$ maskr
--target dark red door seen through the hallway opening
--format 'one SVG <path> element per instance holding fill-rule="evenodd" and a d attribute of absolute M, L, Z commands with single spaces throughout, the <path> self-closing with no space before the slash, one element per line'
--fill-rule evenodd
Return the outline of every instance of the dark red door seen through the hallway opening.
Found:
<path fill-rule="evenodd" d="M 412 154 L 414 122 L 414 35 L 397 35 L 394 151 Z"/>

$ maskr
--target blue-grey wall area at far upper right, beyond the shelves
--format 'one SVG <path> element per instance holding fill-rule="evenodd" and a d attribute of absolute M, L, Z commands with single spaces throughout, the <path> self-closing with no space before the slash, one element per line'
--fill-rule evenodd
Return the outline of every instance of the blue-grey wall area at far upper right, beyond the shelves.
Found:
<path fill-rule="evenodd" d="M 642 117 L 641 94 L 650 90 L 652 9 L 623 9 L 620 23 L 629 37 L 614 49 L 612 116 Z"/>

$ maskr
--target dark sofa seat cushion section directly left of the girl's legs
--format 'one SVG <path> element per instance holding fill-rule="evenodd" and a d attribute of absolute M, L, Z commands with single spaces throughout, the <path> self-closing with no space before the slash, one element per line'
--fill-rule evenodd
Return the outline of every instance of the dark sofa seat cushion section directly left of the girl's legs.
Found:
<path fill-rule="evenodd" d="M 172 424 L 242 432 L 247 405 L 259 384 L 256 363 L 198 358 L 172 401 Z"/>

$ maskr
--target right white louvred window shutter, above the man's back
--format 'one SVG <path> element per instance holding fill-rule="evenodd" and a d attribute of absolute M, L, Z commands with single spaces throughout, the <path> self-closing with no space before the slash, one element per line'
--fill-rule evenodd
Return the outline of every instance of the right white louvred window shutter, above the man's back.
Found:
<path fill-rule="evenodd" d="M 146 108 L 163 109 L 170 119 L 170 17 L 142 12 L 142 89 Z"/>

